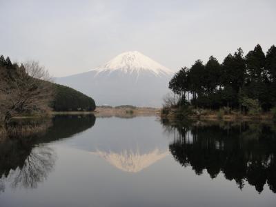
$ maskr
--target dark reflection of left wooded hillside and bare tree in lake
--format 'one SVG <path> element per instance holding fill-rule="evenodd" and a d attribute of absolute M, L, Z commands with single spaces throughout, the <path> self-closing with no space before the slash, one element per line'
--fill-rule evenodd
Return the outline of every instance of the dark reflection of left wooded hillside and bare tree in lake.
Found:
<path fill-rule="evenodd" d="M 46 143 L 71 137 L 91 128 L 95 124 L 95 116 L 57 116 L 48 121 L 28 121 L 19 124 L 20 126 L 14 126 L 14 129 L 29 127 L 34 129 L 34 132 L 20 135 L 10 129 L 12 135 L 1 137 L 0 192 L 5 189 L 6 181 L 14 188 L 36 188 L 55 166 L 55 151 Z M 40 132 L 37 129 L 43 130 Z M 17 134 L 17 137 L 14 134 Z"/>

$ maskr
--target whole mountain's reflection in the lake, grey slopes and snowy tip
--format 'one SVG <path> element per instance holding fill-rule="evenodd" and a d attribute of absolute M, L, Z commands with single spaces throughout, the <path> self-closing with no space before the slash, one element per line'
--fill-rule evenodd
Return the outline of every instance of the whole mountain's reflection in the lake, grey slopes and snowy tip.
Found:
<path fill-rule="evenodd" d="M 168 155 L 168 141 L 155 117 L 97 119 L 92 135 L 72 146 L 92 152 L 125 172 L 139 172 Z"/>

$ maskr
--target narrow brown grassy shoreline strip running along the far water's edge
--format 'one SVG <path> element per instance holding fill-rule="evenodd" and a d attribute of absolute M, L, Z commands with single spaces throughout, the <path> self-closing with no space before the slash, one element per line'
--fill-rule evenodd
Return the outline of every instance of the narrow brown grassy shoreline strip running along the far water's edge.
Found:
<path fill-rule="evenodd" d="M 273 114 L 271 112 L 262 113 L 261 115 L 240 115 L 237 112 L 228 115 L 217 115 L 216 110 L 204 112 L 196 115 L 181 115 L 177 110 L 169 110 L 168 114 L 161 112 L 160 108 L 148 107 L 97 107 L 94 111 L 51 111 L 46 116 L 41 115 L 23 115 L 12 117 L 12 119 L 44 119 L 55 115 L 95 115 L 95 117 L 122 117 L 132 118 L 139 116 L 157 116 L 161 119 L 168 119 L 169 121 L 273 121 Z M 178 117 L 178 116 L 182 117 Z"/>

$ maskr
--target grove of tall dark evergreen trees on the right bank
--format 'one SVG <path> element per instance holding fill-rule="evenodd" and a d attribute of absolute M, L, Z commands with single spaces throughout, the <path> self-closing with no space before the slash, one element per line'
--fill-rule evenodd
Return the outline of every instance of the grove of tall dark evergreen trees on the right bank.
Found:
<path fill-rule="evenodd" d="M 218 110 L 227 108 L 244 114 L 274 110 L 276 106 L 276 47 L 266 54 L 258 44 L 244 55 L 239 48 L 222 63 L 211 56 L 207 63 L 195 61 L 169 82 L 177 101 L 170 107 L 193 106 Z"/>

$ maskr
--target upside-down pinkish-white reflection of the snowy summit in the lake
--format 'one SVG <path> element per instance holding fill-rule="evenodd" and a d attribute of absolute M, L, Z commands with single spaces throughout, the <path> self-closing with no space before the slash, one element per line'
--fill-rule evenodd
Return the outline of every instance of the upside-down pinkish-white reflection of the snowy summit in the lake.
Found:
<path fill-rule="evenodd" d="M 155 149 L 152 152 L 141 155 L 139 151 L 129 152 L 124 150 L 121 153 L 115 153 L 97 150 L 96 152 L 92 152 L 92 154 L 98 155 L 112 164 L 112 166 L 125 172 L 139 172 L 144 168 L 148 168 L 148 166 L 154 164 L 159 159 L 166 157 L 168 151 L 160 152 L 158 149 Z"/>

